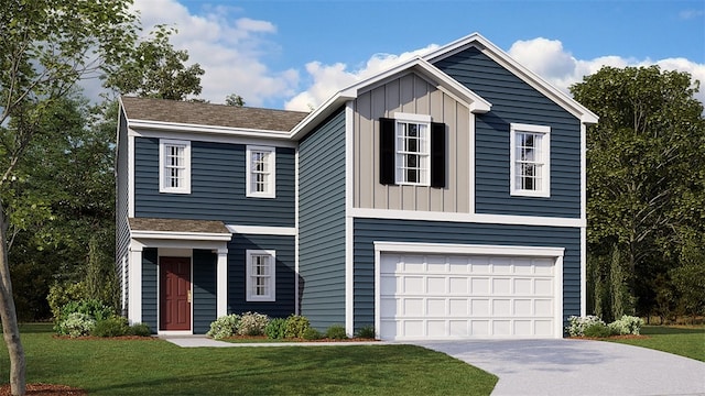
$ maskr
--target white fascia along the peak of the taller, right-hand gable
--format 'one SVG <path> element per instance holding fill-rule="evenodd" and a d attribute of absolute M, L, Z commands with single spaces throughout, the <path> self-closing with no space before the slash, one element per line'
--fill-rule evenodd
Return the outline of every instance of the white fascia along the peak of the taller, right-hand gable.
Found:
<path fill-rule="evenodd" d="M 596 124 L 598 117 L 589 109 L 578 103 L 575 99 L 571 98 L 567 94 L 555 88 L 543 77 L 529 70 L 520 63 L 514 61 L 509 54 L 492 44 L 489 40 L 485 38 L 479 33 L 473 33 L 459 40 L 456 40 L 447 45 L 440 47 L 438 50 L 429 53 L 423 56 L 427 62 L 434 62 L 452 56 L 467 47 L 475 46 L 479 48 L 484 54 L 488 55 L 495 62 L 499 63 L 507 69 L 511 70 L 517 77 L 521 78 L 524 82 L 529 84 L 546 97 L 551 98 L 558 106 L 564 108 L 573 116 L 581 119 L 581 122 L 585 124 Z"/>

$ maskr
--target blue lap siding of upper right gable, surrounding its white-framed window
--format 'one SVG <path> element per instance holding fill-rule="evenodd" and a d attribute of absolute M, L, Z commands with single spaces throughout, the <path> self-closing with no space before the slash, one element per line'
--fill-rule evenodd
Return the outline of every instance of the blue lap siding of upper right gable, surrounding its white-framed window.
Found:
<path fill-rule="evenodd" d="M 492 103 L 475 128 L 477 213 L 581 217 L 581 121 L 476 47 L 434 64 Z M 551 197 L 509 194 L 510 123 L 551 127 Z"/>

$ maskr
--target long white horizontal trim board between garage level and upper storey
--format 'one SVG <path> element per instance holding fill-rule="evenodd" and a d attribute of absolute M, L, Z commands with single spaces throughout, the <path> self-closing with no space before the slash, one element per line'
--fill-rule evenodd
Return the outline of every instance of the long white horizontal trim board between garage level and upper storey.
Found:
<path fill-rule="evenodd" d="M 484 213 L 456 213 L 415 210 L 391 209 L 364 209 L 352 208 L 349 216 L 367 219 L 394 219 L 394 220 L 422 220 L 447 221 L 460 223 L 503 224 L 503 226 L 545 226 L 545 227 L 586 227 L 585 219 L 555 218 L 539 216 L 512 216 L 512 215 L 484 215 Z"/>

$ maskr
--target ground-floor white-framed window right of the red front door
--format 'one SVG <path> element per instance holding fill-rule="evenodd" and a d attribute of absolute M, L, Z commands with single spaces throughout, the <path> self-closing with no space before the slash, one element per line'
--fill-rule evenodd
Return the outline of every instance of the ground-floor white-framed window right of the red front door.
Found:
<path fill-rule="evenodd" d="M 274 251 L 247 251 L 247 300 L 274 301 L 276 285 L 276 253 Z"/>

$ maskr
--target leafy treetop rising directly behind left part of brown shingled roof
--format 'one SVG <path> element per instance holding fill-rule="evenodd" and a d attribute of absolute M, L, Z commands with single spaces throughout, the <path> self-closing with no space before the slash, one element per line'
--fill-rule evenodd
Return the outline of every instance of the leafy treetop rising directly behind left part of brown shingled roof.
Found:
<path fill-rule="evenodd" d="M 186 67 L 188 53 L 176 51 L 169 42 L 174 29 L 158 25 L 135 48 L 134 56 L 124 62 L 117 73 L 110 75 L 105 86 L 121 95 L 137 94 L 172 100 L 186 100 L 188 95 L 200 94 L 200 65 Z"/>

